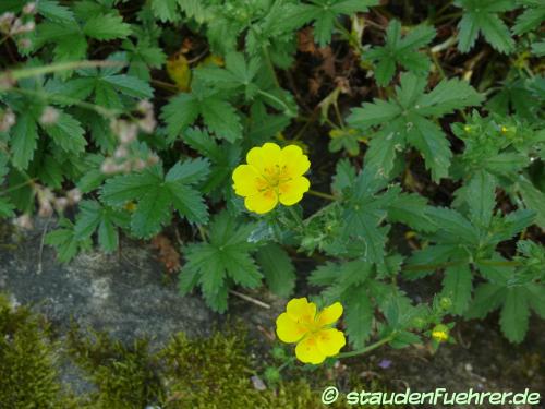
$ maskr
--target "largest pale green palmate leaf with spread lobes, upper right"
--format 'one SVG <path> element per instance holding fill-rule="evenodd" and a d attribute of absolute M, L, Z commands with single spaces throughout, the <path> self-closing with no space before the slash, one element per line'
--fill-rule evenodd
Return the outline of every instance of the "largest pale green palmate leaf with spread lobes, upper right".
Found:
<path fill-rule="evenodd" d="M 445 132 L 432 121 L 457 109 L 479 105 L 483 97 L 467 82 L 441 81 L 425 93 L 426 81 L 412 73 L 401 74 L 396 97 L 375 99 L 353 108 L 348 117 L 351 127 L 363 132 L 379 127 L 370 144 L 367 164 L 376 175 L 388 177 L 398 151 L 405 144 L 416 147 L 435 181 L 447 177 L 452 153 Z"/>

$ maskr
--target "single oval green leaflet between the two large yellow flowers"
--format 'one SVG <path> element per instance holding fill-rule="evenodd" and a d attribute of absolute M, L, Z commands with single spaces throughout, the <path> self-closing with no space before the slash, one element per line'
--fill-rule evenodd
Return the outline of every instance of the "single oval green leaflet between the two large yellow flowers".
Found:
<path fill-rule="evenodd" d="M 288 253 L 278 244 L 270 243 L 255 254 L 270 291 L 288 298 L 295 288 L 295 267 Z"/>

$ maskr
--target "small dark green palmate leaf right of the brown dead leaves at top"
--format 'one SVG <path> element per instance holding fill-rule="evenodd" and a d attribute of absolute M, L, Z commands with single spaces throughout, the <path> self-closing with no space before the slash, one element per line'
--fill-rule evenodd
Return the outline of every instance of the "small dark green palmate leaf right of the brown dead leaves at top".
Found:
<path fill-rule="evenodd" d="M 386 29 L 386 43 L 383 47 L 373 47 L 365 57 L 376 64 L 374 74 L 378 85 L 389 84 L 400 64 L 416 74 L 427 72 L 431 60 L 419 53 L 419 48 L 427 45 L 435 37 L 435 29 L 422 25 L 401 36 L 401 23 L 392 20 Z"/>

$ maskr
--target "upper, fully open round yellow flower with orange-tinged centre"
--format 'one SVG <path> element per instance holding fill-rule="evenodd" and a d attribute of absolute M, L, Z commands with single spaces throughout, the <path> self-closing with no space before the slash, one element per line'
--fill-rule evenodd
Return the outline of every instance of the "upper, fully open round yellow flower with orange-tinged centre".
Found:
<path fill-rule="evenodd" d="M 234 193 L 244 197 L 244 205 L 258 214 L 270 212 L 280 202 L 291 206 L 303 199 L 311 183 L 303 175 L 311 163 L 296 145 L 280 148 L 275 143 L 253 147 L 247 165 L 233 171 Z"/>

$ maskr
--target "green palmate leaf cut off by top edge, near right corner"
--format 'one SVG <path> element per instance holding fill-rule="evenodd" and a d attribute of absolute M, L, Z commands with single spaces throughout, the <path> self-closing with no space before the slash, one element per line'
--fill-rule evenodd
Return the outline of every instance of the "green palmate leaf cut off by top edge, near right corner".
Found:
<path fill-rule="evenodd" d="M 463 9 L 463 16 L 458 24 L 460 51 L 472 49 L 480 32 L 499 52 L 512 51 L 514 41 L 497 13 L 514 9 L 513 0 L 457 0 L 455 5 Z"/>

